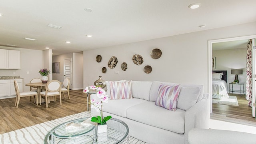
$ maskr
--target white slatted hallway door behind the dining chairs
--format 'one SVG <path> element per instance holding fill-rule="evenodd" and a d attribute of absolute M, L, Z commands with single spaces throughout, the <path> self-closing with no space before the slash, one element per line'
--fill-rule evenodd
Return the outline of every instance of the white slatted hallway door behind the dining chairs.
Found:
<path fill-rule="evenodd" d="M 64 66 L 64 78 L 68 78 L 70 83 L 69 83 L 69 89 L 72 89 L 72 58 L 65 58 L 63 62 Z"/>

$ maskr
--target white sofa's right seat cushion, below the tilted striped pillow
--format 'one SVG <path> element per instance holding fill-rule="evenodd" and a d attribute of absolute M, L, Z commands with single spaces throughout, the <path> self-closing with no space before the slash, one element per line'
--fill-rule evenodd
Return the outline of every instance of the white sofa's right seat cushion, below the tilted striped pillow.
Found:
<path fill-rule="evenodd" d="M 135 98 L 134 98 L 135 99 Z M 154 102 L 144 102 L 126 110 L 126 117 L 179 134 L 184 133 L 185 111 L 177 109 L 175 112 L 156 106 Z"/>

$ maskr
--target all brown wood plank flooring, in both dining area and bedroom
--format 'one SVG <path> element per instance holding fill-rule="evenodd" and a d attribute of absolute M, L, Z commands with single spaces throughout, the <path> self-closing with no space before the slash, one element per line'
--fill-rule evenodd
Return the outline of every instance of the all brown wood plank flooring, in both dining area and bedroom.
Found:
<path fill-rule="evenodd" d="M 82 90 L 70 90 L 70 100 L 67 94 L 65 95 L 65 99 L 62 96 L 61 106 L 57 98 L 55 103 L 48 104 L 48 108 L 45 103 L 37 106 L 29 97 L 20 99 L 18 109 L 14 107 L 15 98 L 0 99 L 0 134 L 87 111 L 87 95 Z M 256 120 L 251 115 L 251 107 L 247 106 L 247 100 L 240 94 L 233 95 L 237 96 L 239 107 L 213 104 L 210 118 L 256 126 Z"/>

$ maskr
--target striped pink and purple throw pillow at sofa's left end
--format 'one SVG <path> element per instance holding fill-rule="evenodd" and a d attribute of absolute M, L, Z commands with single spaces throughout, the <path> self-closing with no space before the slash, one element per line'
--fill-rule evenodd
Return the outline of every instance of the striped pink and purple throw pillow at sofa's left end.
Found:
<path fill-rule="evenodd" d="M 131 99 L 132 98 L 132 86 L 131 81 L 112 82 L 108 81 L 110 86 L 110 99 Z"/>

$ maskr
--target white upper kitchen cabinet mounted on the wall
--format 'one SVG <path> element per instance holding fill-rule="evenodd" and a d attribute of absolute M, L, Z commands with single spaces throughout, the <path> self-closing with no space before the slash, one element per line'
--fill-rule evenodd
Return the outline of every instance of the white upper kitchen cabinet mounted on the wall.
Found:
<path fill-rule="evenodd" d="M 0 49 L 0 69 L 20 69 L 20 51 Z"/>

